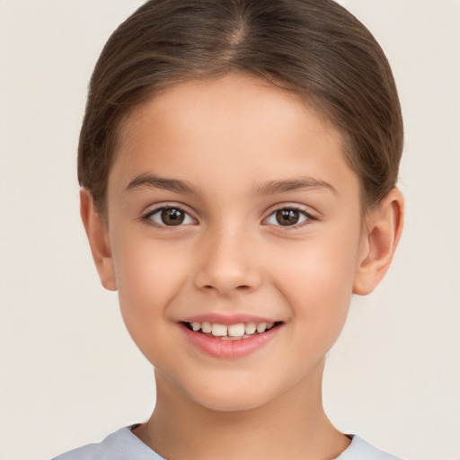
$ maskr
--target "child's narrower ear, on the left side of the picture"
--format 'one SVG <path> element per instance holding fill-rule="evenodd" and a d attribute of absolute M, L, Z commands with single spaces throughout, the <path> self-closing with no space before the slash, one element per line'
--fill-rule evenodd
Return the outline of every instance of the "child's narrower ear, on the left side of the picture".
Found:
<path fill-rule="evenodd" d="M 102 286 L 111 291 L 116 291 L 117 282 L 111 256 L 108 228 L 94 206 L 91 193 L 86 189 L 80 190 L 80 214 Z"/>

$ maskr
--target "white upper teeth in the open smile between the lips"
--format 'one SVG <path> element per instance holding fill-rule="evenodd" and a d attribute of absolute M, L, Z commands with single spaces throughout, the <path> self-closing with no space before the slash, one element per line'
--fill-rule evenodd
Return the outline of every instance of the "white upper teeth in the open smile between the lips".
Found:
<path fill-rule="evenodd" d="M 193 321 L 191 323 L 183 323 L 187 329 L 192 332 L 198 332 L 200 334 L 207 335 L 208 337 L 218 338 L 227 341 L 239 341 L 242 339 L 250 339 L 257 335 L 261 335 L 264 332 L 270 331 L 270 329 L 279 327 L 282 322 L 275 323 L 235 323 L 235 324 L 219 324 L 219 323 L 199 323 Z"/>

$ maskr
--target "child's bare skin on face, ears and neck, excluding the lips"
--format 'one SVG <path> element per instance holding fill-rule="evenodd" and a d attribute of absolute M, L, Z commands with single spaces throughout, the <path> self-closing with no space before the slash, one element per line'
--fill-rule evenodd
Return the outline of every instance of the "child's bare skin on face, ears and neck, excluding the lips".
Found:
<path fill-rule="evenodd" d="M 164 190 L 153 176 L 189 187 Z M 102 284 L 119 290 L 128 331 L 155 366 L 157 403 L 138 438 L 170 460 L 332 459 L 349 446 L 323 411 L 324 357 L 352 294 L 388 269 L 403 197 L 390 191 L 363 220 L 358 177 L 327 120 L 249 76 L 178 84 L 126 121 L 107 216 L 86 190 L 81 198 Z M 165 226 L 152 215 L 162 206 L 180 206 L 184 223 Z M 280 208 L 300 223 L 279 225 Z M 249 356 L 216 358 L 180 327 L 209 313 L 281 325 Z"/>

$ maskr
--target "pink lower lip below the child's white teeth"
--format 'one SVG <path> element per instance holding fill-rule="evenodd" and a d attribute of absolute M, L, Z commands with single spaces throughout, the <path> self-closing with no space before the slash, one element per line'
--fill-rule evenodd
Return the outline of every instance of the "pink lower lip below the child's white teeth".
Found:
<path fill-rule="evenodd" d="M 183 323 L 179 325 L 185 337 L 194 347 L 209 356 L 222 359 L 236 359 L 251 355 L 271 341 L 281 327 L 280 325 L 275 326 L 267 332 L 255 334 L 246 339 L 226 340 L 219 337 L 210 337 L 201 332 L 190 331 Z"/>

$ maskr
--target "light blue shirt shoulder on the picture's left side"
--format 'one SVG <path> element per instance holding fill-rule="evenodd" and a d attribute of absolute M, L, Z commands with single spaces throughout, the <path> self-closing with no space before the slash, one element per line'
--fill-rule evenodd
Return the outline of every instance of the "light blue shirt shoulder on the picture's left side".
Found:
<path fill-rule="evenodd" d="M 115 431 L 102 442 L 66 452 L 53 460 L 164 460 L 137 438 L 130 428 Z"/>

